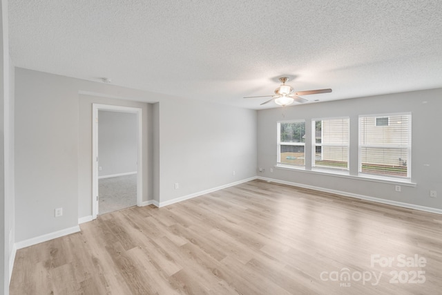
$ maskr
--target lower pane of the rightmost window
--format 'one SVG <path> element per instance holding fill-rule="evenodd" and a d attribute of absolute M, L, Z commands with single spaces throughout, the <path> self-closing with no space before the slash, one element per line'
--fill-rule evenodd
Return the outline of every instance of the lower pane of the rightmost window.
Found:
<path fill-rule="evenodd" d="M 361 148 L 361 172 L 407 177 L 407 149 Z"/>

